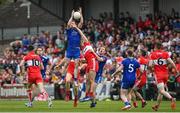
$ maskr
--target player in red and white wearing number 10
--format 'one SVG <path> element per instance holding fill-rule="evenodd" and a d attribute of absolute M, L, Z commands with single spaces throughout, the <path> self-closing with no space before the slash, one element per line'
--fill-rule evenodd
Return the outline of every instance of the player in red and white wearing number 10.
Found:
<path fill-rule="evenodd" d="M 29 103 L 26 103 L 27 107 L 32 107 L 33 99 L 35 96 L 38 96 L 41 93 L 43 96 L 48 97 L 48 107 L 52 106 L 51 98 L 49 97 L 48 93 L 45 91 L 43 87 L 43 79 L 41 75 L 41 69 L 43 69 L 43 64 L 39 55 L 36 55 L 34 52 L 34 47 L 28 47 L 29 53 L 24 56 L 23 60 L 20 63 L 21 72 L 24 74 L 24 65 L 27 68 L 27 75 L 28 75 L 28 98 Z M 33 84 L 38 89 L 38 92 L 33 90 Z"/>

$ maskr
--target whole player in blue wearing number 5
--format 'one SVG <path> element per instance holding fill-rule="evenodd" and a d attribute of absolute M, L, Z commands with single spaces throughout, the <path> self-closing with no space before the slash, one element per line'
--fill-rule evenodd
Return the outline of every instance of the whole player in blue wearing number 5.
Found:
<path fill-rule="evenodd" d="M 140 64 L 133 57 L 133 51 L 131 49 L 128 49 L 127 56 L 128 57 L 122 61 L 122 64 L 117 69 L 117 71 L 113 73 L 113 76 L 114 76 L 120 71 L 123 71 L 120 95 L 125 106 L 122 108 L 122 110 L 128 110 L 131 108 L 131 104 L 129 102 L 129 100 L 131 99 L 131 97 L 129 96 L 131 94 L 129 94 L 130 93 L 129 91 L 133 88 L 135 84 L 136 70 L 140 68 Z"/>

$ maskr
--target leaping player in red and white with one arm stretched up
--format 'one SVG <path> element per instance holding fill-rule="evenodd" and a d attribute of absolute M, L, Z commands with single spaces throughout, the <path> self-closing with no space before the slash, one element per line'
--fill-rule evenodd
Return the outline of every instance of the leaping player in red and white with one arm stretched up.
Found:
<path fill-rule="evenodd" d="M 87 68 L 86 68 L 86 73 L 87 73 L 87 81 L 86 81 L 86 96 L 90 96 L 92 99 L 92 103 L 90 107 L 95 107 L 96 106 L 96 101 L 95 101 L 95 77 L 96 77 L 96 72 L 98 71 L 98 61 L 103 61 L 102 58 L 100 58 L 93 50 L 89 40 L 86 38 L 86 36 L 82 33 L 82 31 L 74 26 L 78 32 L 81 35 L 82 38 L 82 43 L 81 43 L 81 49 L 84 55 L 84 58 L 87 61 Z"/>

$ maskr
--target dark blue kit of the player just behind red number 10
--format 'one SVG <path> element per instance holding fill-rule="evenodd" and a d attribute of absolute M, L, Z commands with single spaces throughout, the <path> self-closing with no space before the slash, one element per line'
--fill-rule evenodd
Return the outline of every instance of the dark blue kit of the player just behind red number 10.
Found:
<path fill-rule="evenodd" d="M 42 74 L 43 78 L 46 78 L 46 68 L 47 68 L 47 65 L 49 62 L 49 58 L 47 56 L 40 56 L 40 58 L 42 60 L 43 66 L 44 66 L 44 69 L 41 70 L 41 74 Z"/>

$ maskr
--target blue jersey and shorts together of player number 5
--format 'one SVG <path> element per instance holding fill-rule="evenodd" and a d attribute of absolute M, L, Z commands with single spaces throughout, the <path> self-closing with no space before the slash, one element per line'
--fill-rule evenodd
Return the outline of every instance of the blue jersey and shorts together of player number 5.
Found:
<path fill-rule="evenodd" d="M 136 70 L 140 67 L 138 61 L 134 58 L 126 58 L 122 61 L 123 73 L 121 88 L 132 88 L 136 80 Z"/>

